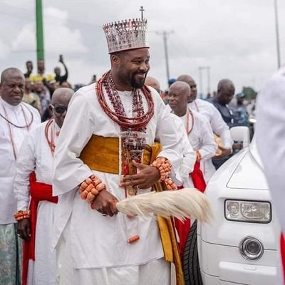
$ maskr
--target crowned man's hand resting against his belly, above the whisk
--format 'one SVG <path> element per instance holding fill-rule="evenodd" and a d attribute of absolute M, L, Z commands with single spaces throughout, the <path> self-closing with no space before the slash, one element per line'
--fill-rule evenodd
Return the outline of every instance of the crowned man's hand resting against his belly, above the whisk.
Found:
<path fill-rule="evenodd" d="M 133 160 L 133 165 L 140 170 L 135 175 L 125 175 L 120 181 L 120 187 L 137 186 L 140 189 L 147 189 L 152 187 L 158 180 L 160 180 L 160 171 L 156 167 L 150 165 L 142 165 Z"/>

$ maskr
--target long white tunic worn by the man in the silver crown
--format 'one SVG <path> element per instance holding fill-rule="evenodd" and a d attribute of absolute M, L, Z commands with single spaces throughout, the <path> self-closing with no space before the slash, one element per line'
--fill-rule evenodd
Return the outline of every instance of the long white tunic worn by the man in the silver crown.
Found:
<path fill-rule="evenodd" d="M 153 89 L 155 113 L 147 124 L 146 143 L 152 145 L 159 140 L 163 145 L 159 156 L 167 157 L 177 173 L 182 162 L 182 135 L 175 129 L 170 113 L 165 108 L 160 95 Z M 132 116 L 133 96 L 130 92 L 119 92 L 127 116 Z M 108 96 L 105 99 L 110 105 Z M 145 97 L 142 96 L 147 110 Z M 113 107 L 110 107 L 113 109 Z M 118 187 L 120 176 L 105 172 L 91 171 L 77 158 L 92 135 L 118 137 L 120 126 L 110 120 L 98 103 L 95 84 L 78 90 L 73 95 L 68 113 L 61 128 L 56 146 L 53 169 L 53 195 L 60 195 L 56 207 L 55 244 L 68 218 L 68 231 L 72 244 L 71 254 L 75 269 L 131 266 L 145 264 L 163 257 L 162 244 L 155 219 L 134 217 L 134 224 L 126 222 L 123 214 L 103 217 L 90 209 L 81 199 L 78 185 L 93 173 L 106 184 L 107 190 L 115 197 L 125 199 L 125 190 Z M 98 150 L 100 151 L 100 150 Z M 138 190 L 138 194 L 150 191 Z M 140 240 L 128 244 L 129 232 L 140 235 Z"/>

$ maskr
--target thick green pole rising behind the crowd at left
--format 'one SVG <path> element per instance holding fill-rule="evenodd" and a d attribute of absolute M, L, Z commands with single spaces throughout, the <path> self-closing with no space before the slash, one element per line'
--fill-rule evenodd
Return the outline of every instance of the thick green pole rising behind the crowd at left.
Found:
<path fill-rule="evenodd" d="M 43 46 L 43 7 L 42 0 L 36 0 L 36 58 L 44 60 Z"/>

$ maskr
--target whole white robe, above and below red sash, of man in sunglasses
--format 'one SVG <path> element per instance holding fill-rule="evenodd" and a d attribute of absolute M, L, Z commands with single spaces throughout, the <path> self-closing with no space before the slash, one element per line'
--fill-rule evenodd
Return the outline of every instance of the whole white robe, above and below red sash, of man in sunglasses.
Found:
<path fill-rule="evenodd" d="M 36 181 L 51 185 L 53 155 L 46 140 L 48 122 L 41 123 L 26 135 L 16 162 L 14 193 L 18 210 L 28 208 L 30 200 L 29 175 L 36 172 Z M 60 130 L 53 122 L 48 128 L 48 140 L 56 145 Z M 52 251 L 53 213 L 56 204 L 46 200 L 38 203 L 36 219 L 35 261 L 28 261 L 28 285 L 56 284 L 56 252 Z"/>

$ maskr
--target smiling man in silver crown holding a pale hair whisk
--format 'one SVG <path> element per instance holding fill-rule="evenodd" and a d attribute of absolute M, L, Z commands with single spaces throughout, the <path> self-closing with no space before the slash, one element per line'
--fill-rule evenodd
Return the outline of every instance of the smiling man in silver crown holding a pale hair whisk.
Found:
<path fill-rule="evenodd" d="M 155 157 L 167 157 L 172 174 L 182 162 L 182 135 L 160 95 L 144 86 L 146 24 L 136 19 L 103 26 L 111 70 L 78 90 L 68 107 L 53 171 L 58 284 L 170 284 L 157 221 L 120 214 L 114 203 L 149 192 L 162 177 L 156 167 L 128 163 L 143 143 L 161 143 Z M 92 192 L 84 196 L 79 185 Z"/>

